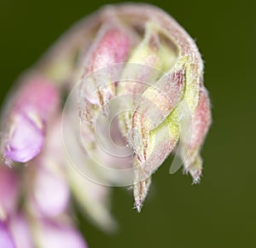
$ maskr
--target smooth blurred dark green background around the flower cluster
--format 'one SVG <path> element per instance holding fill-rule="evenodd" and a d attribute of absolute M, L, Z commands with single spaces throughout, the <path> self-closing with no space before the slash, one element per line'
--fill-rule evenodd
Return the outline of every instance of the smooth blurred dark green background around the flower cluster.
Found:
<path fill-rule="evenodd" d="M 104 1 L 1 0 L 1 90 L 76 20 Z M 112 2 L 113 3 L 113 2 Z M 256 27 L 255 2 L 152 1 L 195 38 L 205 61 L 213 124 L 202 155 L 204 177 L 191 186 L 171 160 L 154 174 L 141 214 L 131 192 L 113 191 L 116 234 L 103 234 L 86 220 L 83 233 L 98 247 L 256 247 Z M 24 247 L 26 248 L 26 247 Z"/>

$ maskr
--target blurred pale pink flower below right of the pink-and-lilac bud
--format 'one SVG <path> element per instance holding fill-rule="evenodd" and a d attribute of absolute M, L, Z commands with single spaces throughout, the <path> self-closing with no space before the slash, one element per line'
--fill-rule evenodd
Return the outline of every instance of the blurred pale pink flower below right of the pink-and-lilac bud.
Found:
<path fill-rule="evenodd" d="M 67 158 L 61 139 L 61 115 L 57 117 L 47 130 L 49 137 L 44 150 L 28 164 L 26 171 L 29 192 L 26 204 L 34 214 L 44 217 L 60 216 L 67 211 L 70 200 L 65 168 Z"/>

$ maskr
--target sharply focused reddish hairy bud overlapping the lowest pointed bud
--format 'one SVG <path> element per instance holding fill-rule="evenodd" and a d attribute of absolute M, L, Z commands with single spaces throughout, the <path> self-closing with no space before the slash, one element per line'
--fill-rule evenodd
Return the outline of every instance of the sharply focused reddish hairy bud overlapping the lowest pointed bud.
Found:
<path fill-rule="evenodd" d="M 130 143 L 137 159 L 142 163 L 148 159 L 149 132 L 165 120 L 182 96 L 183 69 L 173 71 L 143 93 L 143 98 L 132 115 Z"/>

